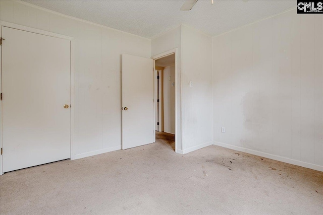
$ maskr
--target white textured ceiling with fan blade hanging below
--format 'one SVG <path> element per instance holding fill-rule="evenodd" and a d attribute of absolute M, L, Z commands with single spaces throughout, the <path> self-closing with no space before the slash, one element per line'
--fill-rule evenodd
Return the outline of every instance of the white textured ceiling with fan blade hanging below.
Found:
<path fill-rule="evenodd" d="M 184 1 L 25 1 L 52 11 L 146 38 L 187 24 L 212 36 L 296 8 L 293 1 L 199 0 L 191 11 Z"/>

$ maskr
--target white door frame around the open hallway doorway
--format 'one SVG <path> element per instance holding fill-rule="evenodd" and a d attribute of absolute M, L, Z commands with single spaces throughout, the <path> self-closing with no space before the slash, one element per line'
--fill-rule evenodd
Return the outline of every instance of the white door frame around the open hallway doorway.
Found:
<path fill-rule="evenodd" d="M 180 90 L 181 90 L 180 80 L 178 79 L 179 71 L 177 69 L 178 50 L 177 50 L 177 48 L 174 48 L 169 51 L 165 51 L 163 53 L 152 56 L 152 59 L 154 60 L 154 67 L 155 67 L 155 60 L 162 58 L 162 57 L 166 57 L 171 54 L 175 54 L 175 66 L 174 66 L 175 67 L 175 152 L 180 153 L 179 151 L 181 151 L 181 149 L 178 149 L 178 144 L 179 144 L 179 139 L 180 139 L 179 137 L 182 136 L 182 131 L 181 131 L 181 129 L 178 128 L 178 125 L 181 124 L 181 122 L 180 122 L 181 117 L 178 117 L 178 113 L 179 114 L 181 113 L 180 107 L 178 106 L 178 100 L 180 101 L 181 98 L 178 98 L 178 96 L 177 96 L 177 95 L 180 95 L 180 94 L 178 94 L 178 92 L 180 92 Z M 155 97 L 154 101 L 157 101 L 155 94 L 154 94 L 154 97 Z"/>

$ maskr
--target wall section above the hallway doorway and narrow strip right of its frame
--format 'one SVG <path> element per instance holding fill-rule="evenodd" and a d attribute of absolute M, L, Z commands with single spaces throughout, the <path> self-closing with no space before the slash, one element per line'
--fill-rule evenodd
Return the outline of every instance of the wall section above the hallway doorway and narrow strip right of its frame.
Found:
<path fill-rule="evenodd" d="M 178 83 L 175 83 L 175 88 L 177 89 L 176 93 L 176 117 L 177 124 L 175 130 L 178 135 L 175 136 L 175 141 L 177 145 L 176 152 L 183 153 L 182 151 L 182 135 L 181 135 L 181 26 L 163 34 L 151 40 L 151 56 L 161 54 L 163 52 L 177 48 L 177 59 L 176 59 L 176 69 L 177 77 L 176 80 Z"/>

